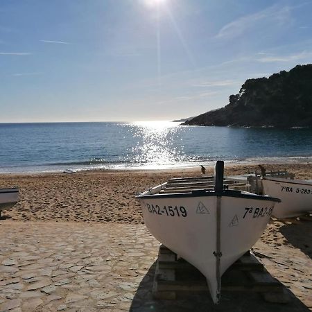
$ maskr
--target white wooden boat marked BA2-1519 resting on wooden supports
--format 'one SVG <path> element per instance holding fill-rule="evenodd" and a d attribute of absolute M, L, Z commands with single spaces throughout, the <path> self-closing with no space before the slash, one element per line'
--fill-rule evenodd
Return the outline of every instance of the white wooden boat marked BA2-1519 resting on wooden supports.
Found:
<path fill-rule="evenodd" d="M 205 275 L 214 303 L 220 301 L 221 275 L 257 242 L 279 202 L 225 190 L 223 166 L 216 164 L 214 189 L 189 189 L 194 181 L 185 178 L 184 189 L 168 191 L 164 183 L 137 196 L 150 233 Z"/>

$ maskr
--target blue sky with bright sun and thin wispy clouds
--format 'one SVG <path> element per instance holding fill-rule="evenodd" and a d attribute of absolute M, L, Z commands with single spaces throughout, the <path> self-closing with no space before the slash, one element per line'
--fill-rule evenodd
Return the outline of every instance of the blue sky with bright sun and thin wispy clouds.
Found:
<path fill-rule="evenodd" d="M 144 121 L 312 63 L 312 0 L 0 0 L 0 122 Z"/>

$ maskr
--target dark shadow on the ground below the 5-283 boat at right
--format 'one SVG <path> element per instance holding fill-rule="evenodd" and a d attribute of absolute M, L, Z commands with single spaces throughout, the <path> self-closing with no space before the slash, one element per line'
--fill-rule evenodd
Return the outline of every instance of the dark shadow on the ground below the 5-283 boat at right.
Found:
<path fill-rule="evenodd" d="M 297 221 L 280 227 L 279 231 L 288 243 L 299 248 L 304 254 L 312 259 L 312 223 Z"/>

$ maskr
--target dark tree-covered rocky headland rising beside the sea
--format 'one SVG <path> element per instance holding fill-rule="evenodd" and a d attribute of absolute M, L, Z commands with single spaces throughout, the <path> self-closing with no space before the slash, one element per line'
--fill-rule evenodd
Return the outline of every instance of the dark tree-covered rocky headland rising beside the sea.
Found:
<path fill-rule="evenodd" d="M 248 79 L 228 105 L 183 125 L 312 127 L 312 64 Z"/>

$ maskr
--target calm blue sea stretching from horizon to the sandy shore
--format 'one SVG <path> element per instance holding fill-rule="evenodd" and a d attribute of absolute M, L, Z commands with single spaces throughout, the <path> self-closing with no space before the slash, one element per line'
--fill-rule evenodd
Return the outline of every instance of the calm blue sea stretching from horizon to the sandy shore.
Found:
<path fill-rule="evenodd" d="M 0 123 L 0 173 L 310 162 L 312 129 L 137 123 Z"/>

